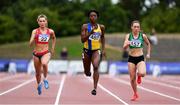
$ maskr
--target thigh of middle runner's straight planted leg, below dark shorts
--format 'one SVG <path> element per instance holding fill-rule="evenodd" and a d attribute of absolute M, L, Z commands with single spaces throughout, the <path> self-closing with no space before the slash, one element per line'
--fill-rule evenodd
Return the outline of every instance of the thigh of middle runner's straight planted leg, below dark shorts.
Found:
<path fill-rule="evenodd" d="M 92 54 L 92 64 L 93 67 L 98 67 L 100 63 L 101 52 L 100 50 L 94 51 Z"/>

